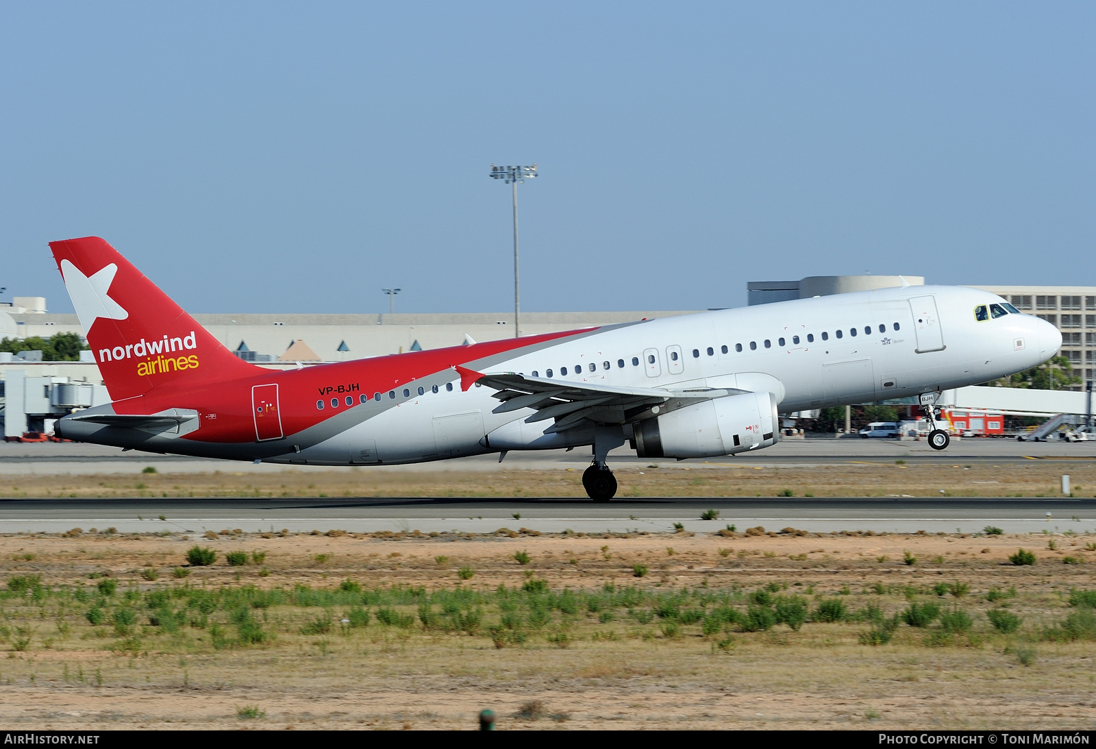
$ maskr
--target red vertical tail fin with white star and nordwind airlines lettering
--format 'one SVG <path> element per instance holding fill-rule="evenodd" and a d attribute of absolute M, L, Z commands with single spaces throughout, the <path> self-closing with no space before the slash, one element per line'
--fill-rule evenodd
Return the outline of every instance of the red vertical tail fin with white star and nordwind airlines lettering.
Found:
<path fill-rule="evenodd" d="M 49 248 L 112 400 L 254 371 L 105 240 L 66 239 Z"/>

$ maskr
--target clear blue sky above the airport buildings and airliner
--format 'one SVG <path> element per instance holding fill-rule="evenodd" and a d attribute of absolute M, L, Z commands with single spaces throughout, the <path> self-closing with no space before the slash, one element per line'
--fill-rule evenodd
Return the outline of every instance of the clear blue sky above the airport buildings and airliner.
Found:
<path fill-rule="evenodd" d="M 1092 284 L 1092 3 L 0 5 L 0 286 L 99 235 L 192 311 Z"/>

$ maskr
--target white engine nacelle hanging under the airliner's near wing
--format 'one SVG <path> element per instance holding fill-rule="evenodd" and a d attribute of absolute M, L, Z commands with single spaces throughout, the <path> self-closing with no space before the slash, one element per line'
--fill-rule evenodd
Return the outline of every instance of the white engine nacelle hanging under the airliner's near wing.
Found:
<path fill-rule="evenodd" d="M 776 396 L 743 393 L 705 400 L 633 424 L 639 457 L 716 457 L 780 439 Z"/>

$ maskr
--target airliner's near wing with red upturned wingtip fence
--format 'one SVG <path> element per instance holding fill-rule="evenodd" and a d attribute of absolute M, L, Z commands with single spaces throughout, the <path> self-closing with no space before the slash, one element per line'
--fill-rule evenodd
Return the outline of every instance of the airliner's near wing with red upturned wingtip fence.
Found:
<path fill-rule="evenodd" d="M 546 429 L 545 433 L 589 425 L 583 424 L 584 421 L 606 424 L 642 421 L 700 400 L 745 391 L 715 388 L 672 390 L 657 387 L 615 387 L 526 377 L 513 372 L 482 374 L 460 366 L 457 370 L 461 384 L 467 384 L 466 388 L 475 383 L 495 390 L 493 396 L 502 404 L 492 410 L 493 413 L 532 408 L 536 413 L 525 419 L 527 423 L 555 419 L 556 423 Z"/>

